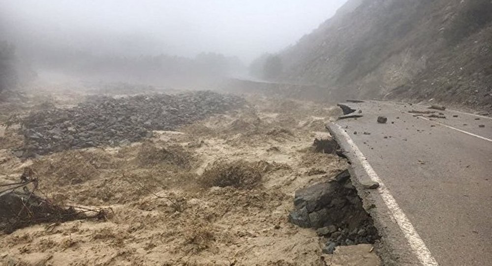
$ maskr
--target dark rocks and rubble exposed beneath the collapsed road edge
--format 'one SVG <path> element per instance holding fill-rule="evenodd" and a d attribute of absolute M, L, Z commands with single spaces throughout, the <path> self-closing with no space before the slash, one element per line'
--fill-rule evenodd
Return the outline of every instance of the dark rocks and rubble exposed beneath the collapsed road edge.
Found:
<path fill-rule="evenodd" d="M 333 180 L 297 190 L 294 206 L 289 221 L 317 229 L 327 240 L 322 248 L 325 253 L 333 253 L 339 245 L 373 244 L 379 239 L 347 170 Z"/>

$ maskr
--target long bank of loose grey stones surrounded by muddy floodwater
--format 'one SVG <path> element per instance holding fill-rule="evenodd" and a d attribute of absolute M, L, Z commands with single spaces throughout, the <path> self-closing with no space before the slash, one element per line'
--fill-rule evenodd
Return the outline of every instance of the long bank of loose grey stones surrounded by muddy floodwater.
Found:
<path fill-rule="evenodd" d="M 244 104 L 238 96 L 196 91 L 112 98 L 92 96 L 71 109 L 44 110 L 23 121 L 24 147 L 31 157 L 70 148 L 117 146 L 173 130 Z"/>

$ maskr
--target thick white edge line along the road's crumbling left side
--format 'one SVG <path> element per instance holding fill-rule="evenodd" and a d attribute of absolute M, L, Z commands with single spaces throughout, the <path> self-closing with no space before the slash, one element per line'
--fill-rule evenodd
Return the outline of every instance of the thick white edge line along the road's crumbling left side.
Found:
<path fill-rule="evenodd" d="M 352 152 L 355 154 L 357 159 L 361 162 L 362 167 L 364 168 L 364 170 L 366 170 L 366 173 L 368 174 L 370 179 L 374 182 L 379 183 L 379 187 L 377 188 L 377 190 L 381 195 L 383 202 L 390 210 L 397 224 L 400 226 L 403 235 L 407 239 L 408 244 L 410 245 L 413 253 L 419 259 L 420 263 L 424 266 L 438 266 L 439 264 L 432 256 L 431 251 L 427 248 L 422 238 L 420 238 L 419 234 L 413 227 L 412 223 L 410 223 L 410 220 L 408 220 L 403 210 L 400 209 L 395 198 L 393 198 L 393 196 L 391 195 L 389 189 L 385 186 L 383 181 L 377 176 L 374 169 L 372 169 L 372 166 L 370 166 L 366 156 L 364 156 L 364 154 L 360 151 L 357 145 L 355 145 L 355 143 L 352 141 L 352 139 L 347 134 L 347 132 L 345 132 L 338 124 L 336 125 L 338 126 L 339 132 L 345 138 L 345 141 L 352 148 Z"/>

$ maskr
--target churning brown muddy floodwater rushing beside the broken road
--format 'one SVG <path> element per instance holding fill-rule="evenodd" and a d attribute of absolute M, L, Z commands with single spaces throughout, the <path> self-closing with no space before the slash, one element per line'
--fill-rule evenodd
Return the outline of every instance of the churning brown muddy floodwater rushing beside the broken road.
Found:
<path fill-rule="evenodd" d="M 63 105 L 62 97 L 53 97 L 55 105 Z M 2 127 L 0 183 L 17 181 L 30 166 L 40 178 L 39 191 L 54 202 L 111 207 L 114 214 L 108 221 L 39 224 L 0 233 L 0 261 L 376 266 L 371 245 L 322 254 L 324 242 L 314 230 L 287 220 L 295 190 L 347 168 L 345 159 L 310 149 L 315 138 L 328 137 L 324 123 L 337 115 L 335 107 L 251 96 L 240 109 L 176 131 L 154 131 L 141 142 L 35 159 L 12 154 L 23 145 L 18 125 Z"/>

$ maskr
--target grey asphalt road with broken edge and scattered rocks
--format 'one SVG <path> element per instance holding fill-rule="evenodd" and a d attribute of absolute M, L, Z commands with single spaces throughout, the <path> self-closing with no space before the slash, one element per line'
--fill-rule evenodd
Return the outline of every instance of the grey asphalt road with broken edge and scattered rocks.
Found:
<path fill-rule="evenodd" d="M 359 194 L 375 206 L 370 213 L 393 252 L 387 264 L 491 266 L 492 119 L 390 102 L 347 105 L 363 117 L 327 126 L 352 162 Z M 378 116 L 388 121 L 378 123 Z M 382 187 L 361 185 L 371 178 L 364 161 Z M 405 218 L 411 225 L 399 222 Z"/>

